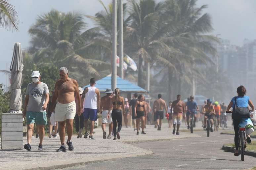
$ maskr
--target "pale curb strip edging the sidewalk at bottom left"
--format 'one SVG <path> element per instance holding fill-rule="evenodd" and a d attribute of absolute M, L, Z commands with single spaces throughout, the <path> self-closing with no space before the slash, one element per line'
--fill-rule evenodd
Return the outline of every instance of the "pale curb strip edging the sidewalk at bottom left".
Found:
<path fill-rule="evenodd" d="M 63 168 L 74 167 L 74 166 L 82 166 L 82 165 L 85 165 L 85 164 L 88 164 L 88 163 L 96 163 L 96 162 L 102 162 L 102 161 L 118 159 L 118 158 L 146 156 L 146 155 L 153 155 L 153 154 L 154 153 L 152 151 L 146 150 L 145 152 L 132 153 L 132 154 L 127 154 L 127 155 L 100 156 L 100 157 L 86 158 L 86 159 L 81 159 L 81 160 L 69 160 L 69 161 L 65 161 L 65 163 L 51 162 L 51 165 L 45 165 L 45 166 L 38 166 L 38 164 L 31 164 L 31 165 L 28 165 L 26 168 L 22 168 L 20 166 L 15 166 L 15 167 L 8 168 L 8 170 L 17 170 L 17 169 L 21 169 L 21 170 L 63 169 Z"/>

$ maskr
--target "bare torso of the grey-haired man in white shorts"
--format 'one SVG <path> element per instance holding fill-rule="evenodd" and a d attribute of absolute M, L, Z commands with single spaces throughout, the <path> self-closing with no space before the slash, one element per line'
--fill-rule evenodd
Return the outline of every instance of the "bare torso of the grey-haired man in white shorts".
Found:
<path fill-rule="evenodd" d="M 76 80 L 72 78 L 67 78 L 67 80 L 64 82 L 59 79 L 55 84 L 55 91 L 58 93 L 58 101 L 62 104 L 74 101 L 74 92 L 76 87 L 78 87 L 78 84 Z"/>

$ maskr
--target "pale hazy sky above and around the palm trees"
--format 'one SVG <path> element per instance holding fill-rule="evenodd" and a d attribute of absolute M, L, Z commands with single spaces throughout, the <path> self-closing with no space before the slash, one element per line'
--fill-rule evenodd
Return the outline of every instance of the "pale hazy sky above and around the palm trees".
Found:
<path fill-rule="evenodd" d="M 111 0 L 102 0 L 105 5 Z M 125 1 L 125 0 L 124 0 Z M 157 0 L 160 1 L 160 0 Z M 9 70 L 13 55 L 14 43 L 20 42 L 22 48 L 29 46 L 28 29 L 39 15 L 56 9 L 62 12 L 79 11 L 84 15 L 94 15 L 103 10 L 98 0 L 9 0 L 19 15 L 19 31 L 9 32 L 0 28 L 0 70 Z M 214 31 L 211 35 L 228 39 L 232 44 L 241 46 L 243 40 L 256 39 L 256 0 L 198 0 L 197 6 L 208 5 L 204 13 L 212 17 Z M 89 27 L 93 23 L 85 19 Z M 6 76 L 0 73 L 0 84 L 6 84 Z"/>

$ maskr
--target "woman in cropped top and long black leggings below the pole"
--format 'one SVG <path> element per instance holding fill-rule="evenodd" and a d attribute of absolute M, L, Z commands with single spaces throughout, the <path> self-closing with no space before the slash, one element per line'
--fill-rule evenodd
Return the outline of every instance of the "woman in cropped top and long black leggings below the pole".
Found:
<path fill-rule="evenodd" d="M 122 128 L 122 111 L 123 111 L 123 116 L 125 115 L 125 108 L 124 108 L 124 98 L 120 96 L 120 90 L 118 88 L 115 89 L 115 96 L 111 98 L 110 104 L 109 104 L 109 109 L 107 113 L 107 118 L 110 118 L 110 110 L 113 107 L 112 110 L 112 120 L 113 120 L 113 132 L 114 132 L 114 139 L 120 139 L 120 131 Z M 116 127 L 117 131 L 116 131 Z"/>

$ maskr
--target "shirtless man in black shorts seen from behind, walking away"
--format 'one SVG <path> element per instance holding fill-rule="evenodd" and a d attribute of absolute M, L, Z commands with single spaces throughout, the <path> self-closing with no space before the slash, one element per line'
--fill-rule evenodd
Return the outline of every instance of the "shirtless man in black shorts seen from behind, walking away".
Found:
<path fill-rule="evenodd" d="M 166 103 L 162 99 L 161 94 L 158 94 L 158 99 L 154 101 L 153 109 L 154 109 L 154 114 L 156 116 L 157 130 L 161 130 L 162 120 L 164 118 L 163 109 L 165 109 L 165 114 L 167 114 L 168 112 Z"/>

